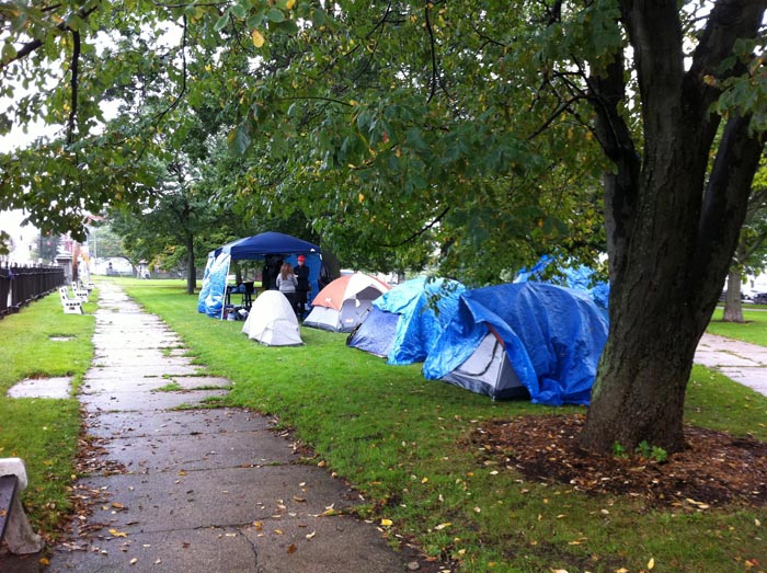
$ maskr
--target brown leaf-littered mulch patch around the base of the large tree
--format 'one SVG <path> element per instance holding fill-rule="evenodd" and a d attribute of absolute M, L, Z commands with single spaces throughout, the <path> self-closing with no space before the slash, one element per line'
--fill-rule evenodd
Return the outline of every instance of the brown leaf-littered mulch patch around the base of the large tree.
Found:
<path fill-rule="evenodd" d="M 642 496 L 654 507 L 767 505 L 765 442 L 686 426 L 687 449 L 663 461 L 634 452 L 596 456 L 576 443 L 584 423 L 581 414 L 522 416 L 485 424 L 470 440 L 529 480 L 587 493 Z"/>

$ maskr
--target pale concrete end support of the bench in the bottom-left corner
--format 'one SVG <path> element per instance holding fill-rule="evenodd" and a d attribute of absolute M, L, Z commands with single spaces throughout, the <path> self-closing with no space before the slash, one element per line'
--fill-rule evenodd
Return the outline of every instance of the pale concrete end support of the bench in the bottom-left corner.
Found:
<path fill-rule="evenodd" d="M 44 547 L 24 513 L 19 494 L 26 489 L 26 468 L 20 458 L 0 458 L 0 543 L 11 553 L 37 553 Z"/>

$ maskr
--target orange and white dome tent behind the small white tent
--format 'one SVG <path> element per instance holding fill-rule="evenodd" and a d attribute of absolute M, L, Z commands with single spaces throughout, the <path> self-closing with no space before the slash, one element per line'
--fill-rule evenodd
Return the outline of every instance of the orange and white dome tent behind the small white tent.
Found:
<path fill-rule="evenodd" d="M 304 320 L 305 326 L 352 332 L 375 299 L 389 290 L 377 278 L 364 273 L 344 275 L 320 290 L 311 302 L 311 312 Z"/>

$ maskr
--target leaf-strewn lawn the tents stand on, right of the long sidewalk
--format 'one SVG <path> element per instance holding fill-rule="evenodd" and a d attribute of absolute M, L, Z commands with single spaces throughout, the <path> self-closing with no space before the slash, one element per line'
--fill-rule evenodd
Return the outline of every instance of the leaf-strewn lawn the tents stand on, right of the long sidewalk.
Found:
<path fill-rule="evenodd" d="M 584 495 L 488 465 L 468 444 L 490 420 L 582 409 L 492 402 L 313 329 L 301 329 L 302 347 L 260 346 L 241 322 L 198 314 L 181 282 L 122 284 L 197 363 L 232 381 L 230 405 L 279 416 L 316 452 L 307 463 L 362 492 L 362 516 L 391 519 L 391 534 L 460 561 L 461 572 L 639 572 L 651 559 L 654 572 L 732 572 L 748 570 L 746 560 L 767 563 L 763 509 L 655 511 L 640 497 Z M 766 414 L 767 398 L 695 368 L 688 422 L 764 440 Z"/>

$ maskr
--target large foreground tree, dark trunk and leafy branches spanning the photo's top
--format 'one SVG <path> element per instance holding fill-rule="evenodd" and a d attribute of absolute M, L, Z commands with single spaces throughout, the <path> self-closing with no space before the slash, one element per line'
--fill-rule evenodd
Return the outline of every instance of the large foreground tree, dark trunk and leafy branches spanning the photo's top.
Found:
<path fill-rule="evenodd" d="M 3 72 L 53 54 L 71 64 L 71 79 L 75 64 L 99 61 L 95 47 L 81 56 L 90 30 L 126 42 L 91 70 L 92 83 L 53 90 L 67 129 L 41 156 L 50 169 L 41 176 L 24 156 L 25 168 L 3 164 L 3 184 L 14 197 L 31 185 L 15 200 L 35 214 L 55 210 L 36 175 L 64 179 L 56 200 L 87 208 L 152 188 L 156 174 L 142 165 L 168 150 L 158 139 L 168 114 L 135 106 L 138 117 L 98 138 L 87 129 L 96 94 L 123 82 L 161 110 L 182 100 L 220 107 L 230 147 L 243 153 L 234 208 L 309 220 L 339 252 L 401 264 L 437 251 L 444 270 L 483 284 L 546 251 L 594 257 L 604 241 L 610 335 L 581 439 L 602 451 L 642 440 L 674 451 L 695 348 L 763 150 L 766 3 L 717 0 L 700 14 L 697 2 L 631 0 L 512 10 L 500 0 L 121 4 L 127 12 L 3 4 L 15 9 L 16 33 Z M 179 42 L 137 49 L 148 39 L 134 31 L 161 21 Z M 21 31 L 28 42 L 13 44 Z M 21 103 L 15 119 L 33 102 Z M 89 170 L 79 173 L 83 156 Z"/>

